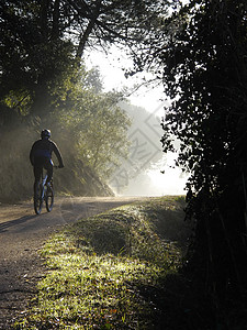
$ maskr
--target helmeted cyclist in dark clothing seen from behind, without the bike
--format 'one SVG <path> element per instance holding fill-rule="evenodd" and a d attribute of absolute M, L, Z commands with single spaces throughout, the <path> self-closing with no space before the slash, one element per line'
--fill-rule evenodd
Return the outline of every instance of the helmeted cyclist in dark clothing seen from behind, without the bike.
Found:
<path fill-rule="evenodd" d="M 53 161 L 52 161 L 53 152 L 55 153 L 59 162 L 58 167 L 59 168 L 64 167 L 60 152 L 56 143 L 49 139 L 50 139 L 50 131 L 46 129 L 43 130 L 41 132 L 41 139 L 34 142 L 30 152 L 30 162 L 33 165 L 33 172 L 35 178 L 34 193 L 41 179 L 43 168 L 47 170 L 47 184 L 49 184 L 53 178 Z"/>

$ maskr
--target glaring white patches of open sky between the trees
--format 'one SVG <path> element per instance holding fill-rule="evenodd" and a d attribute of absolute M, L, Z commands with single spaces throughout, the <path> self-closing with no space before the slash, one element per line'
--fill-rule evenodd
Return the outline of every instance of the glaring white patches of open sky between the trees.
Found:
<path fill-rule="evenodd" d="M 132 87 L 141 79 L 139 76 L 125 78 L 122 66 L 127 66 L 130 61 L 126 59 L 119 51 L 114 51 L 114 55 L 103 55 L 102 53 L 90 53 L 86 57 L 88 68 L 99 66 L 105 91 L 122 87 Z M 161 119 L 164 116 L 162 100 L 165 95 L 162 87 L 154 89 L 142 87 L 130 97 L 132 105 L 143 107 L 148 112 L 155 113 Z M 158 138 L 157 138 L 158 139 Z M 139 173 L 130 180 L 128 186 L 120 191 L 120 195 L 134 196 L 164 196 L 164 195 L 184 195 L 184 186 L 187 177 L 182 175 L 179 168 L 170 168 L 168 164 L 172 163 L 172 155 L 164 155 L 162 164 L 154 164 L 153 167 L 144 173 Z M 165 170 L 161 174 L 160 170 Z M 116 189 L 112 187 L 117 194 Z"/>

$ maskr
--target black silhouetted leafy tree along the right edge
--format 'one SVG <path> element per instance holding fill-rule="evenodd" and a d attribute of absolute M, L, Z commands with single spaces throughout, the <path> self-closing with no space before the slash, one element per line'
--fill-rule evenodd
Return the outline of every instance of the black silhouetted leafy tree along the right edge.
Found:
<path fill-rule="evenodd" d="M 164 151 L 180 140 L 189 172 L 187 215 L 197 221 L 193 258 L 223 294 L 247 286 L 246 1 L 190 1 L 165 24 L 153 62 L 173 99 L 162 122 Z"/>

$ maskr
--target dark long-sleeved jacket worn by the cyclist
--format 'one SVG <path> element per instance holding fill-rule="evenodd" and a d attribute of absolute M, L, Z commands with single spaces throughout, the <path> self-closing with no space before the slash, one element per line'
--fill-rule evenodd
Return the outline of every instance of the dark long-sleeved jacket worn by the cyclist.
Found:
<path fill-rule="evenodd" d="M 53 152 L 57 156 L 57 160 L 59 162 L 59 167 L 64 167 L 61 155 L 56 143 L 47 139 L 41 139 L 34 142 L 30 152 L 30 162 L 34 166 L 37 160 L 41 158 L 52 160 Z"/>

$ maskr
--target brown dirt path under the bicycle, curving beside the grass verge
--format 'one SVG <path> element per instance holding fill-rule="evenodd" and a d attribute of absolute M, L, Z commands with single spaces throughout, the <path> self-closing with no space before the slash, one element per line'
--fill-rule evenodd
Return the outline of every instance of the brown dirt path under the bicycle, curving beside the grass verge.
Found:
<path fill-rule="evenodd" d="M 12 329 L 35 297 L 45 266 L 37 251 L 49 234 L 80 218 L 101 213 L 143 198 L 57 198 L 50 213 L 35 216 L 32 201 L 0 205 L 0 329 Z"/>

